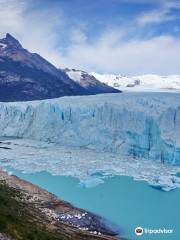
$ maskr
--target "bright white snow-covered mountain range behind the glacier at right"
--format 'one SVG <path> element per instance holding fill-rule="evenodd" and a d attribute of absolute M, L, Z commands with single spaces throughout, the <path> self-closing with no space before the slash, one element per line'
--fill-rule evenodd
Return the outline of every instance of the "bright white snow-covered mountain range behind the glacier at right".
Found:
<path fill-rule="evenodd" d="M 127 91 L 171 91 L 180 90 L 179 75 L 122 76 L 115 74 L 91 73 L 99 81 L 119 90 Z"/>

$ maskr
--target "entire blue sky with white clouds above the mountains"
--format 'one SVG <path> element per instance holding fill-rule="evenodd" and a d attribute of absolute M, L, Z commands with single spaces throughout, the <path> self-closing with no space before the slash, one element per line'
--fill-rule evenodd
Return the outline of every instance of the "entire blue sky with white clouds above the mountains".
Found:
<path fill-rule="evenodd" d="M 179 0 L 0 0 L 7 32 L 60 68 L 180 74 Z"/>

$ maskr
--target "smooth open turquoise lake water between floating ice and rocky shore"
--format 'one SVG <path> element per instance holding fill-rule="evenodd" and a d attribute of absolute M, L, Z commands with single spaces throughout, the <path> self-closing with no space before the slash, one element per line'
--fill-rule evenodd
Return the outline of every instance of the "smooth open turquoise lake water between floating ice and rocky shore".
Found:
<path fill-rule="evenodd" d="M 72 177 L 52 176 L 47 172 L 24 174 L 13 170 L 13 173 L 77 207 L 104 216 L 120 226 L 123 236 L 129 239 L 180 240 L 180 189 L 163 192 L 144 182 L 120 176 L 109 178 L 96 187 L 85 188 Z M 136 236 L 134 229 L 138 226 L 167 228 L 174 232 Z"/>

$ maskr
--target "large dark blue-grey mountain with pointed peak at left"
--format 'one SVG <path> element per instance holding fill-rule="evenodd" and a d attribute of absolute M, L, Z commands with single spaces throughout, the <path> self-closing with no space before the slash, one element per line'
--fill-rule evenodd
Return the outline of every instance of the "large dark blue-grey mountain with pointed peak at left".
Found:
<path fill-rule="evenodd" d="M 115 91 L 109 88 L 109 92 Z M 107 91 L 106 91 L 107 92 Z M 104 93 L 103 89 L 97 93 Z M 0 39 L 0 101 L 28 101 L 89 95 L 61 69 L 30 53 L 10 34 Z"/>

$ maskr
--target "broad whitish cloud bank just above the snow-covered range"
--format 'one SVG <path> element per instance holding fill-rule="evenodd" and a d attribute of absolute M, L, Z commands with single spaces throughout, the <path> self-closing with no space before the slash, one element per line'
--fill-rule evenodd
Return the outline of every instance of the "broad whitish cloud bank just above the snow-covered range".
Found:
<path fill-rule="evenodd" d="M 115 36 L 115 33 L 113 33 Z M 119 37 L 118 33 L 117 36 Z M 62 55 L 65 66 L 89 71 L 121 74 L 178 74 L 180 71 L 180 39 L 172 36 L 155 37 L 149 40 L 119 41 L 114 45 L 105 34 L 92 44 L 71 46 Z"/>

